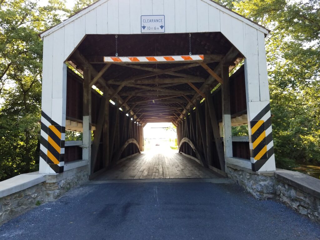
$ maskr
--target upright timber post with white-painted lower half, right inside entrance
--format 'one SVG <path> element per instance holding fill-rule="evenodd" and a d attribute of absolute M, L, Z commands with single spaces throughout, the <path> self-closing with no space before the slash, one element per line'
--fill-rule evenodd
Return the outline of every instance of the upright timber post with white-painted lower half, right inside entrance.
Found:
<path fill-rule="evenodd" d="M 232 157 L 232 133 L 231 133 L 231 111 L 230 111 L 230 85 L 229 85 L 229 67 L 221 66 L 222 86 L 222 122 L 223 122 L 223 146 L 224 156 Z M 227 159 L 225 159 L 227 162 Z"/>

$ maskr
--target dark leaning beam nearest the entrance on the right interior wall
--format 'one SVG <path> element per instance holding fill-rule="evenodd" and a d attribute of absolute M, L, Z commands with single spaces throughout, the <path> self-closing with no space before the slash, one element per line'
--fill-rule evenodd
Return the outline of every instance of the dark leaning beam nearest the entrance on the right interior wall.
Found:
<path fill-rule="evenodd" d="M 217 115 L 216 111 L 213 105 L 212 101 L 212 96 L 209 90 L 206 90 L 206 101 L 208 104 L 208 109 L 209 109 L 209 114 L 210 114 L 210 121 L 211 121 L 211 126 L 212 126 L 212 131 L 213 131 L 213 138 L 214 138 L 214 143 L 216 144 L 216 149 L 218 153 L 218 158 L 220 162 L 220 167 L 223 172 L 225 172 L 225 160 L 224 160 L 224 151 L 222 147 L 222 141 L 220 137 L 220 131 L 219 131 L 219 124 L 217 120 Z"/>

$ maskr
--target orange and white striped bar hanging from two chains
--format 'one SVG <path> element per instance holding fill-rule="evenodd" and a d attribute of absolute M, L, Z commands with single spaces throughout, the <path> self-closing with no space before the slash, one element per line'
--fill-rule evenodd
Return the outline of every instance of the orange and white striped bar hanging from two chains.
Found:
<path fill-rule="evenodd" d="M 150 57 L 104 57 L 105 63 L 188 63 L 203 62 L 204 55 L 150 56 Z"/>

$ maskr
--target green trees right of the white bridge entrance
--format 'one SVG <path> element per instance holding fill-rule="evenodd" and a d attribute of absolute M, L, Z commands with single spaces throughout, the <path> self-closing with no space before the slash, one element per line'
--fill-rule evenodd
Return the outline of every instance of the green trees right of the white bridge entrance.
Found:
<path fill-rule="evenodd" d="M 319 1 L 220 3 L 271 30 L 266 51 L 277 166 L 320 164 Z"/>

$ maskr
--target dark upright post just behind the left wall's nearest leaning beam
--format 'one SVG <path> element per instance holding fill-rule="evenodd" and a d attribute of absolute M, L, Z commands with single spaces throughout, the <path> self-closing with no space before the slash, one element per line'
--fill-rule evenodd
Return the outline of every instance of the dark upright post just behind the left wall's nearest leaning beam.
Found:
<path fill-rule="evenodd" d="M 107 101 L 104 106 L 104 125 L 103 125 L 103 167 L 108 167 L 109 165 L 109 131 L 110 131 L 110 123 L 109 123 L 109 94 L 107 89 L 104 89 L 103 95 L 105 95 Z"/>

